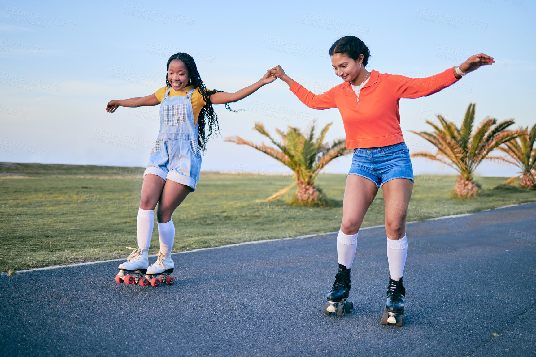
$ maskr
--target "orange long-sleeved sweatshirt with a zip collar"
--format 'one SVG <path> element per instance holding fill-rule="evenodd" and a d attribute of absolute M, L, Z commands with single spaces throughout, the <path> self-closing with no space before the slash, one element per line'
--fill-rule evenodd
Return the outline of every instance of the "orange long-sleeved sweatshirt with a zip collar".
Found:
<path fill-rule="evenodd" d="M 291 91 L 312 109 L 338 108 L 343 117 L 346 147 L 373 148 L 404 142 L 400 130 L 400 98 L 427 96 L 457 81 L 452 69 L 427 78 L 370 72 L 358 96 L 350 82 L 315 95 L 294 81 Z"/>

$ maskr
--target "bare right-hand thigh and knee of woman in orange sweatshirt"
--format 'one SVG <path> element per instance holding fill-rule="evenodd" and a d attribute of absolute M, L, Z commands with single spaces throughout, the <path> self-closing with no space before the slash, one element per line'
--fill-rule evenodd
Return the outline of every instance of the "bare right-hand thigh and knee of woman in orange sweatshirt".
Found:
<path fill-rule="evenodd" d="M 385 233 L 389 239 L 398 240 L 406 234 L 407 207 L 413 191 L 410 179 L 393 179 L 383 186 L 385 204 Z"/>

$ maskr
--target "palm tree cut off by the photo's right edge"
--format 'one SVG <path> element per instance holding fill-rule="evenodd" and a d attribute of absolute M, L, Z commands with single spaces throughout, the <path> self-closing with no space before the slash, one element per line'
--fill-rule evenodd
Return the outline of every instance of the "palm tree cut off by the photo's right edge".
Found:
<path fill-rule="evenodd" d="M 519 177 L 521 177 L 521 185 L 526 188 L 533 188 L 535 186 L 534 176 L 531 171 L 536 170 L 536 148 L 534 148 L 534 141 L 536 141 L 536 124 L 528 131 L 526 128 L 520 128 L 519 131 L 522 135 L 516 140 L 504 143 L 498 150 L 507 154 L 510 157 L 492 156 L 490 159 L 496 159 L 516 165 L 521 169 L 518 173 L 520 175 L 512 177 L 506 180 L 504 183 L 513 185 Z"/>

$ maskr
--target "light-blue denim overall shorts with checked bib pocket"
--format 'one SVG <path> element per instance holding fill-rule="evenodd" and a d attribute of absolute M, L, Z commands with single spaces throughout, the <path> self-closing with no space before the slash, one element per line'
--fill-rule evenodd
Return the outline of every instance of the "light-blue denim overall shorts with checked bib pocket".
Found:
<path fill-rule="evenodd" d="M 201 171 L 201 152 L 197 144 L 191 96 L 169 96 L 169 88 L 160 105 L 160 131 L 143 176 L 152 173 L 164 180 L 189 186 L 196 191 Z"/>

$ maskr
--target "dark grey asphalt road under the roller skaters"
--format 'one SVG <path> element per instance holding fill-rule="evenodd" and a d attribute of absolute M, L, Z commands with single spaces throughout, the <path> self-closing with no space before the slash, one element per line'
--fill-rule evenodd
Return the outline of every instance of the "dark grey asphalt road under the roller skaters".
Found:
<path fill-rule="evenodd" d="M 363 230 L 354 312 L 324 315 L 336 236 L 174 255 L 176 282 L 118 262 L 0 277 L 3 355 L 536 355 L 536 204 L 412 223 L 399 328 L 381 323 L 383 228 Z"/>

